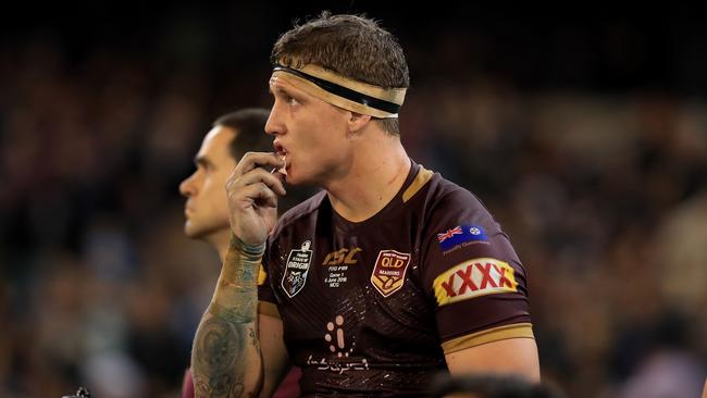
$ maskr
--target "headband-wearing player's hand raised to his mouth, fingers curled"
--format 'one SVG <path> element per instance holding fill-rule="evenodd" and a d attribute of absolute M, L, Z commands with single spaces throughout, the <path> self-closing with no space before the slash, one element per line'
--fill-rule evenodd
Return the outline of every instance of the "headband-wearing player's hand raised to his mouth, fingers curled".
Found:
<path fill-rule="evenodd" d="M 277 221 L 277 196 L 284 196 L 285 176 L 261 166 L 282 167 L 276 153 L 248 152 L 226 181 L 231 231 L 244 244 L 260 246 Z"/>

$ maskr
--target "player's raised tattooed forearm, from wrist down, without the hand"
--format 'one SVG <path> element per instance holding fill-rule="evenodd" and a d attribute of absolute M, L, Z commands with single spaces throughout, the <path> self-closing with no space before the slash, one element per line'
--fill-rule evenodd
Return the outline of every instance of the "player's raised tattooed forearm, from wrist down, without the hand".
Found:
<path fill-rule="evenodd" d="M 257 277 L 262 247 L 232 238 L 213 299 L 191 351 L 196 397 L 257 396 L 262 359 L 257 331 Z"/>

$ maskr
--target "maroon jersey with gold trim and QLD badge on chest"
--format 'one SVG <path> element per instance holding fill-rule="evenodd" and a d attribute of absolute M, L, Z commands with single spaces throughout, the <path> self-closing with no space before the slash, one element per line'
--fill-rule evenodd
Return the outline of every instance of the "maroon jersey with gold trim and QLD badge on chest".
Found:
<path fill-rule="evenodd" d="M 526 275 L 468 190 L 414 163 L 360 223 L 322 191 L 270 236 L 260 311 L 280 316 L 302 395 L 423 395 L 445 353 L 533 337 Z"/>

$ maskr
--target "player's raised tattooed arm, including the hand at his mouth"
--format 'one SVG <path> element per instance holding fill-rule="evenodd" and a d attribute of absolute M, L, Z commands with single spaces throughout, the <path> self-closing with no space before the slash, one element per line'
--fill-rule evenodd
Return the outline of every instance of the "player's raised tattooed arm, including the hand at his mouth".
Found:
<path fill-rule="evenodd" d="M 191 350 L 196 397 L 256 397 L 271 394 L 273 363 L 282 332 L 258 329 L 258 271 L 265 240 L 277 219 L 277 196 L 285 195 L 284 175 L 260 166 L 283 166 L 275 153 L 246 153 L 226 181 L 231 246 L 207 312 L 197 328 Z M 282 324 L 280 325 L 282 331 Z M 266 332 L 266 331 L 265 331 Z M 274 341 L 280 338 L 281 341 Z M 261 340 L 265 344 L 264 353 Z M 273 345 L 273 343 L 275 343 Z M 281 349 L 280 351 L 284 351 Z M 274 352 L 274 353 L 273 353 Z M 263 378 L 266 388 L 263 390 Z"/>

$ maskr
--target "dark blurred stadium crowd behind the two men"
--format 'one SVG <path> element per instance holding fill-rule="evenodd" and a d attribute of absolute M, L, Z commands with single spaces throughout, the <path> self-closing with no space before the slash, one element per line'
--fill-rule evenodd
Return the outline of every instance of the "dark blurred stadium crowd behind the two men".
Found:
<path fill-rule="evenodd" d="M 707 17 L 382 3 L 0 13 L 0 396 L 178 395 L 219 264 L 183 236 L 177 185 L 215 116 L 271 104 L 272 42 L 322 9 L 399 37 L 402 139 L 509 233 L 545 380 L 571 397 L 698 396 Z"/>

